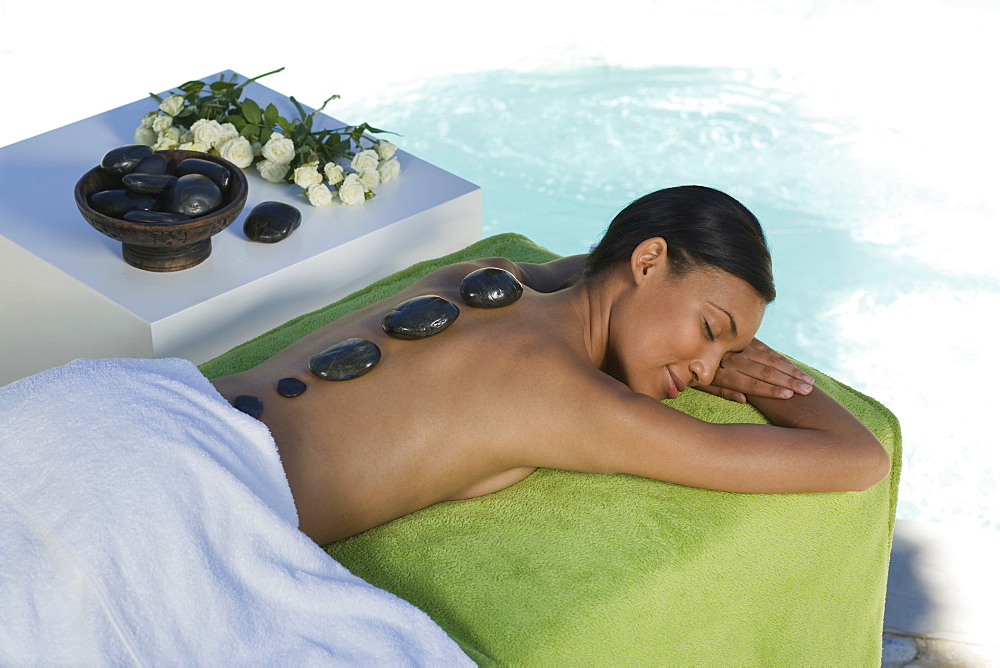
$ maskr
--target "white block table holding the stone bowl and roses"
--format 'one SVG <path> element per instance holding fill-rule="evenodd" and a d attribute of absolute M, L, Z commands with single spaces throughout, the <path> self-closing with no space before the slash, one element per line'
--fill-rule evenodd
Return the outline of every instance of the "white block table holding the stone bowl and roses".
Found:
<path fill-rule="evenodd" d="M 258 82 L 246 97 L 296 115 L 288 98 Z M 312 207 L 300 188 L 268 183 L 251 167 L 246 207 L 212 238 L 205 262 L 179 272 L 136 269 L 120 242 L 80 215 L 73 187 L 109 149 L 133 143 L 155 108 L 147 98 L 0 149 L 0 385 L 78 357 L 201 363 L 482 235 L 480 188 L 398 151 L 400 178 L 360 207 Z M 268 200 L 298 207 L 302 225 L 277 244 L 250 242 L 243 221 Z"/>

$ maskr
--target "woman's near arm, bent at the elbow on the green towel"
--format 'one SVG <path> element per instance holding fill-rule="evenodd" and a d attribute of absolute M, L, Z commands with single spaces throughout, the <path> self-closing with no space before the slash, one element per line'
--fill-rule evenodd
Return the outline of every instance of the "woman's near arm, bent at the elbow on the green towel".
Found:
<path fill-rule="evenodd" d="M 556 444 L 555 459 L 538 465 L 757 494 L 861 491 L 891 468 L 879 440 L 818 387 L 791 399 L 751 396 L 769 425 L 704 422 L 607 389 L 603 399 L 577 395 L 581 410 L 563 426 L 575 442 Z"/>

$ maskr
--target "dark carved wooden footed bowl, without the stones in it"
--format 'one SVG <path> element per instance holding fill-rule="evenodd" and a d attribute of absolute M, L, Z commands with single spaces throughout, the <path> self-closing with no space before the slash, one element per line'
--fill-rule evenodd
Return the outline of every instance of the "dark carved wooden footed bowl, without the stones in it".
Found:
<path fill-rule="evenodd" d="M 95 167 L 77 181 L 76 206 L 98 232 L 122 242 L 122 256 L 133 267 L 146 271 L 179 271 L 200 264 L 212 253 L 212 236 L 229 227 L 247 201 L 247 177 L 243 170 L 218 156 L 199 151 L 157 151 L 173 170 L 187 158 L 216 162 L 232 178 L 222 193 L 222 206 L 182 223 L 133 223 L 94 210 L 89 197 L 102 190 L 121 188 L 120 177 Z"/>

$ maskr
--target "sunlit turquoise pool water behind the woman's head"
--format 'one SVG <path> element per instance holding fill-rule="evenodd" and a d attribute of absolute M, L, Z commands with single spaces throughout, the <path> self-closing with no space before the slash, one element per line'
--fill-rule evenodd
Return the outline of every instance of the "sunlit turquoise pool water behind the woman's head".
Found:
<path fill-rule="evenodd" d="M 940 153 L 914 152 L 912 128 L 824 108 L 780 70 L 725 67 L 488 70 L 332 113 L 396 130 L 481 185 L 484 234 L 561 254 L 651 190 L 734 195 L 775 257 L 760 337 L 900 417 L 899 516 L 1000 529 L 992 401 L 973 391 L 1000 370 L 982 338 L 1000 273 L 980 246 L 1000 241 L 1000 216 L 940 178 Z"/>

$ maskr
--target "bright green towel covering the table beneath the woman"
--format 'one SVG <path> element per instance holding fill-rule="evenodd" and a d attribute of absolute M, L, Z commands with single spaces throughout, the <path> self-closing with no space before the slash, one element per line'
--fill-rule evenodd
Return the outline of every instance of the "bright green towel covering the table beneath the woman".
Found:
<path fill-rule="evenodd" d="M 504 234 L 378 281 L 203 365 L 249 368 L 450 262 L 555 257 Z M 876 666 L 899 486 L 899 423 L 815 369 L 889 449 L 866 492 L 749 495 L 628 475 L 538 470 L 327 546 L 426 611 L 483 665 Z M 700 392 L 669 402 L 714 422 L 764 422 Z"/>

